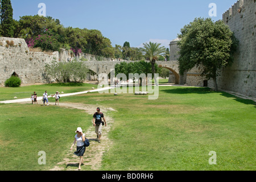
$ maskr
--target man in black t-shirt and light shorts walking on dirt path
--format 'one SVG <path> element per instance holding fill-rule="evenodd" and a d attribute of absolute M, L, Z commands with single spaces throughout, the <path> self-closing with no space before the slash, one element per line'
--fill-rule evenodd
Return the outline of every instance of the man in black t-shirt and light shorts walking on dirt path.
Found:
<path fill-rule="evenodd" d="M 100 107 L 97 107 L 97 112 L 93 114 L 93 126 L 95 126 L 95 133 L 97 134 L 98 143 L 101 142 L 101 129 L 102 125 L 104 125 L 101 118 L 103 118 L 106 126 L 106 119 L 104 117 L 104 114 L 101 113 Z"/>

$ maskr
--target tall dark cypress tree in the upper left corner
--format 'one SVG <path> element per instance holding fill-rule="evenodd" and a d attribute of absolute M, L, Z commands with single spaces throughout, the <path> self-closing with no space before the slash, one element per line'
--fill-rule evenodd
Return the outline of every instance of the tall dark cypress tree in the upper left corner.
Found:
<path fill-rule="evenodd" d="M 14 20 L 11 0 L 2 0 L 1 2 L 1 29 L 2 36 L 13 38 Z"/>

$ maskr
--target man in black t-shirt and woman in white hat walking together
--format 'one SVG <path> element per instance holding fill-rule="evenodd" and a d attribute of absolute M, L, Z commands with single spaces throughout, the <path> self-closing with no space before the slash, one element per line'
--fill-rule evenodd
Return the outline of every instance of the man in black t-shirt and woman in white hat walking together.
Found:
<path fill-rule="evenodd" d="M 102 121 L 102 119 L 104 120 L 104 122 Z M 100 107 L 97 107 L 97 112 L 93 114 L 93 126 L 95 127 L 95 133 L 97 134 L 97 141 L 98 143 L 100 143 L 101 140 L 101 130 L 102 130 L 102 126 L 105 125 L 106 126 L 106 119 L 104 117 L 104 114 L 101 112 Z M 76 129 L 76 135 L 75 135 L 75 139 L 74 142 L 70 148 L 70 150 L 73 149 L 73 146 L 76 144 L 76 151 L 73 153 L 77 156 L 80 157 L 80 161 L 79 161 L 79 170 L 81 170 L 81 164 L 84 162 L 84 152 L 85 152 L 85 134 L 82 133 L 82 129 L 81 127 L 77 127 Z"/>

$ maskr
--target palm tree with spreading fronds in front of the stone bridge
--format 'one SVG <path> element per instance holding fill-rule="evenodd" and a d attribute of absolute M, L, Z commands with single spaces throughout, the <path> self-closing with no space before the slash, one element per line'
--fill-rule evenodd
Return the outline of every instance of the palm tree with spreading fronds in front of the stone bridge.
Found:
<path fill-rule="evenodd" d="M 141 48 L 142 54 L 146 57 L 147 60 L 151 63 L 152 75 L 155 74 L 155 61 L 158 60 L 159 56 L 164 55 L 166 53 L 166 48 L 160 47 L 160 43 L 143 43 L 143 48 Z M 158 84 L 156 82 L 156 85 Z"/>

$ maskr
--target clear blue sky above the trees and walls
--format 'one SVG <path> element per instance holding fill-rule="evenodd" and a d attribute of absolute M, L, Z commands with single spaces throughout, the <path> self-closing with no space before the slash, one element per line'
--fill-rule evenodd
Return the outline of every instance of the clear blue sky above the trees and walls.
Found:
<path fill-rule="evenodd" d="M 222 19 L 237 0 L 11 0 L 14 16 L 36 15 L 39 3 L 46 4 L 46 15 L 59 19 L 64 27 L 97 29 L 112 46 L 140 47 L 158 42 L 168 47 L 180 29 L 195 18 Z M 210 17 L 210 3 L 217 16 Z"/>

